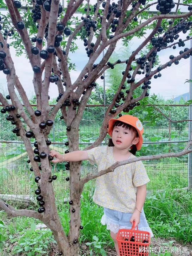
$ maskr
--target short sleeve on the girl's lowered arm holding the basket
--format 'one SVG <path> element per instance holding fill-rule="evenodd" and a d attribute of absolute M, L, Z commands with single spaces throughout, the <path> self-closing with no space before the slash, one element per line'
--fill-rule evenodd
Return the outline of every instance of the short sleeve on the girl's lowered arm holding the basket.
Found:
<path fill-rule="evenodd" d="M 135 162 L 135 173 L 133 177 L 133 184 L 135 187 L 142 186 L 150 181 L 145 166 L 141 161 Z"/>

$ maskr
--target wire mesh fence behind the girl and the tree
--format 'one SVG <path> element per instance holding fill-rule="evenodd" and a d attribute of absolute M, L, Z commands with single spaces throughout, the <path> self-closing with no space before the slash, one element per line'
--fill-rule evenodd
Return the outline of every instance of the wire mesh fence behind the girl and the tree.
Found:
<path fill-rule="evenodd" d="M 178 152 L 185 148 L 188 143 L 188 122 L 171 123 L 165 116 L 157 112 L 156 115 L 147 120 L 145 111 L 151 106 L 143 107 L 143 112 L 138 111 L 138 118 L 144 126 L 143 146 L 136 156 L 157 155 L 169 152 Z M 177 110 L 175 111 L 175 108 Z M 170 119 L 178 120 L 177 113 L 184 116 L 189 114 L 189 106 L 173 105 L 173 109 L 167 110 L 161 106 L 161 111 L 167 112 Z M 79 150 L 85 149 L 92 144 L 99 136 L 102 120 L 104 119 L 105 107 L 86 107 L 79 126 Z M 126 113 L 122 113 L 126 114 Z M 128 113 L 133 114 L 134 113 Z M 51 129 L 49 140 L 54 149 L 64 154 L 69 149 L 67 142 L 66 125 L 60 118 L 59 110 L 54 126 Z M 152 121 L 153 119 L 153 121 Z M 28 155 L 20 137 L 12 133 L 13 125 L 7 122 L 5 116 L 0 115 L 0 194 L 29 195 L 35 196 L 36 183 L 34 174 L 30 171 L 31 163 L 27 163 Z M 29 128 L 25 127 L 26 130 Z M 107 145 L 108 138 L 101 143 Z M 33 143 L 35 139 L 31 139 Z M 34 147 L 34 146 L 33 146 Z M 169 188 L 186 188 L 188 186 L 188 168 L 192 163 L 188 161 L 188 155 L 179 158 L 163 158 L 159 160 L 143 161 L 150 182 L 147 184 L 148 191 L 162 190 Z M 69 189 L 69 170 L 66 170 L 66 162 L 57 163 L 52 166 L 52 174 L 57 175 L 53 182 L 56 197 L 61 197 Z M 88 172 L 97 171 L 97 166 L 90 165 L 89 161 L 82 161 L 81 177 Z"/>

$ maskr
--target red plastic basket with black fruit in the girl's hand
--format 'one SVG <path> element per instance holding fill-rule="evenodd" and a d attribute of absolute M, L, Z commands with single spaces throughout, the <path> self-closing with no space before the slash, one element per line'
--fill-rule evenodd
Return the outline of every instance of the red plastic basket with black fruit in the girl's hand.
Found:
<path fill-rule="evenodd" d="M 134 241 L 132 236 L 134 236 Z M 147 232 L 147 231 L 138 230 L 138 225 L 136 230 L 135 220 L 133 221 L 132 229 L 119 230 L 116 240 L 118 241 L 120 256 L 148 256 L 149 255 L 149 252 L 145 248 L 149 247 L 151 243 L 151 234 L 150 232 Z M 143 243 L 144 240 L 146 242 Z"/>

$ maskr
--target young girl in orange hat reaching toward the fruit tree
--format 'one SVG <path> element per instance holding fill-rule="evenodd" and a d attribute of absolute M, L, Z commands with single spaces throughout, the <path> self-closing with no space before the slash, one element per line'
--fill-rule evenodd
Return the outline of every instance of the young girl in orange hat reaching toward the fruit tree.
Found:
<path fill-rule="evenodd" d="M 89 160 L 91 164 L 97 165 L 99 172 L 117 161 L 135 158 L 136 151 L 143 144 L 143 131 L 143 125 L 136 116 L 123 115 L 118 119 L 110 119 L 108 134 L 111 138 L 107 146 L 73 151 L 64 156 L 51 150 L 51 156 L 56 157 L 52 162 Z M 138 229 L 148 231 L 151 237 L 154 236 L 143 210 L 146 184 L 149 181 L 141 161 L 118 166 L 113 172 L 96 178 L 93 201 L 104 207 L 101 223 L 110 230 L 118 256 L 117 233 L 119 229 L 131 229 L 133 220 Z"/>

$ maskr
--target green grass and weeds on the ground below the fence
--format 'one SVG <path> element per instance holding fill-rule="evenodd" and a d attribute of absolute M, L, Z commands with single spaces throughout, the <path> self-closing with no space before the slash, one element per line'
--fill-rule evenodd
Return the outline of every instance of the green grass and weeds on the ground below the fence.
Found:
<path fill-rule="evenodd" d="M 89 181 L 82 193 L 81 225 L 84 228 L 80 231 L 79 242 L 81 247 L 85 246 L 87 242 L 95 242 L 90 245 L 93 255 L 104 255 L 97 248 L 99 247 L 98 244 L 107 253 L 107 251 L 114 249 L 114 243 L 109 230 L 100 223 L 103 207 L 95 204 L 92 197 L 89 196 L 90 193 L 93 195 L 94 186 L 94 181 Z M 182 243 L 183 246 L 190 243 L 192 240 L 191 197 L 192 191 L 183 190 L 172 193 L 171 189 L 165 190 L 163 193 L 147 196 L 144 211 L 156 239 L 161 237 L 175 239 L 175 241 Z M 57 208 L 65 233 L 68 234 L 69 204 L 63 204 L 62 199 L 63 197 L 57 200 Z M 12 202 L 11 204 L 17 209 L 24 207 L 21 203 Z M 28 209 L 36 210 L 36 208 L 36 206 L 28 206 Z M 56 242 L 49 229 L 35 231 L 35 225 L 40 223 L 38 220 L 28 217 L 9 218 L 4 212 L 0 212 L 0 220 L 3 221 L 0 222 L 2 239 L 0 255 L 51 255 L 51 248 L 56 246 Z M 98 240 L 97 242 L 94 240 L 95 238 Z M 153 255 L 157 254 L 152 253 L 151 256 Z M 172 254 L 163 253 L 159 255 L 171 256 Z"/>

